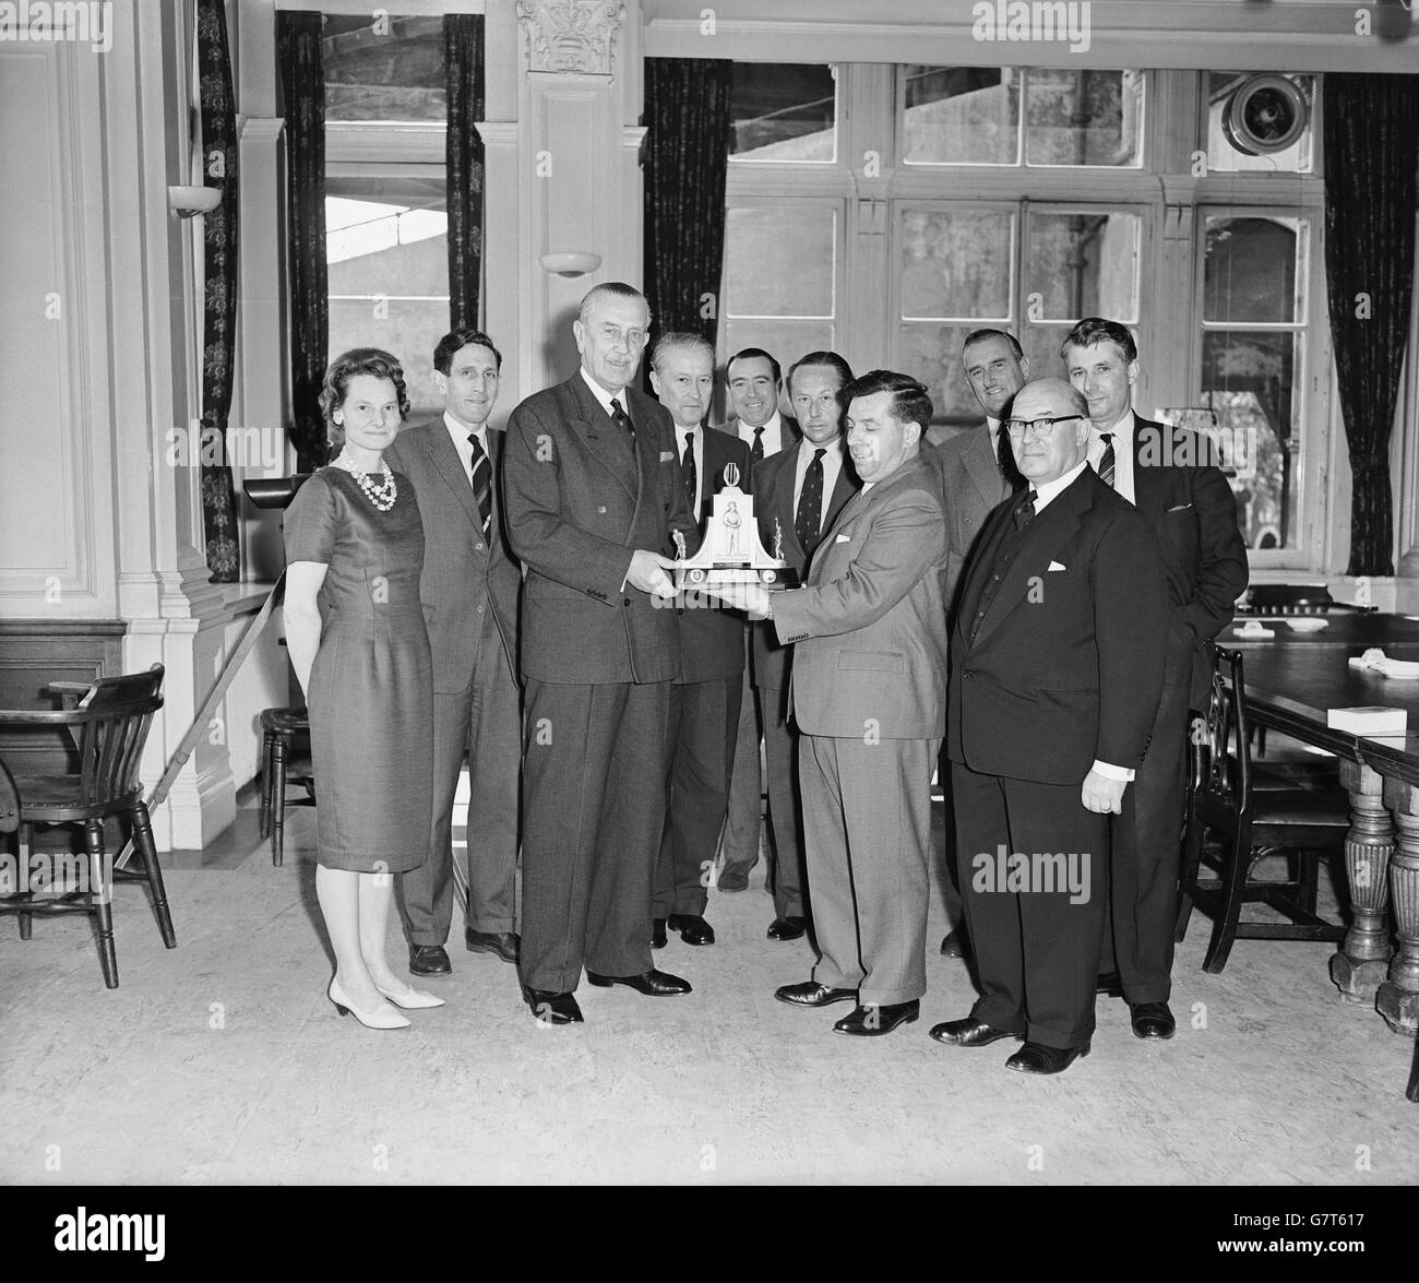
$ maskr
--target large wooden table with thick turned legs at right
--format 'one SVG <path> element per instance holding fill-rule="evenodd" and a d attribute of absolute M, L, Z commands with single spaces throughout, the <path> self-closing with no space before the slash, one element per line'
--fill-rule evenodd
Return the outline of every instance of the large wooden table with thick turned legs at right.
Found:
<path fill-rule="evenodd" d="M 1247 715 L 1260 725 L 1335 754 L 1349 793 L 1345 874 L 1354 923 L 1331 959 L 1331 979 L 1351 1002 L 1374 1003 L 1396 1033 L 1419 1032 L 1419 681 L 1352 668 L 1372 646 L 1391 659 L 1419 660 L 1419 622 L 1396 615 L 1331 615 L 1318 633 L 1263 619 L 1274 639 L 1237 634 L 1218 642 L 1244 653 Z M 1376 739 L 1334 731 L 1327 710 L 1384 704 L 1409 714 L 1402 737 Z M 1398 949 L 1391 947 L 1391 905 Z M 1419 1080 L 1410 1098 L 1419 1098 Z"/>

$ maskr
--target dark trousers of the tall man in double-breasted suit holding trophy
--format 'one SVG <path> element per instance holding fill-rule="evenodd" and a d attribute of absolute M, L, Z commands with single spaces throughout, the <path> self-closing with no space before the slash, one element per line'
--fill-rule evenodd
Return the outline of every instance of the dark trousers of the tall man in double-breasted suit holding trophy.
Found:
<path fill-rule="evenodd" d="M 582 965 L 650 971 L 666 817 L 670 683 L 528 678 L 522 768 L 522 984 L 569 993 Z"/>

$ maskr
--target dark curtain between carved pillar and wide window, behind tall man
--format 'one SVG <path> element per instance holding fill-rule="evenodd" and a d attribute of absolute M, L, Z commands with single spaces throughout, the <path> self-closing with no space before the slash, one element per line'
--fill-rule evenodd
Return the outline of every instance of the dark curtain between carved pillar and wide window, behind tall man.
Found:
<path fill-rule="evenodd" d="M 734 64 L 646 60 L 646 297 L 651 332 L 715 341 Z M 708 295 L 708 298 L 707 298 Z"/>

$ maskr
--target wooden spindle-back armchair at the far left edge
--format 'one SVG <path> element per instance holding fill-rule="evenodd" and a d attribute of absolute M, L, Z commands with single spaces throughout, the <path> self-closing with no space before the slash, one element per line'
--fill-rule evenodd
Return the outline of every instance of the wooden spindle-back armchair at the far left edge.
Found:
<path fill-rule="evenodd" d="M 55 683 L 51 690 L 60 691 L 68 705 L 61 711 L 0 711 L 0 727 L 67 729 L 78 754 L 77 771 L 65 775 L 16 776 L 0 762 L 0 833 L 18 830 L 18 884 L 23 887 L 0 897 L 0 913 L 18 915 L 21 940 L 30 940 L 35 915 L 87 913 L 95 917 L 104 984 L 109 989 L 118 988 L 111 903 L 115 881 L 148 883 L 163 944 L 177 947 L 148 805 L 138 779 L 148 728 L 153 714 L 163 707 L 162 687 L 163 666 L 153 664 L 146 673 L 104 677 L 92 684 Z M 104 820 L 111 816 L 126 816 L 132 825 L 133 849 L 143 861 L 140 873 L 108 867 Z M 61 879 L 47 879 L 58 894 L 35 898 L 30 884 L 34 829 L 67 825 L 84 826 L 84 856 L 57 853 L 54 860 L 62 867 L 64 887 L 70 887 L 71 874 L 82 886 L 60 890 Z"/>

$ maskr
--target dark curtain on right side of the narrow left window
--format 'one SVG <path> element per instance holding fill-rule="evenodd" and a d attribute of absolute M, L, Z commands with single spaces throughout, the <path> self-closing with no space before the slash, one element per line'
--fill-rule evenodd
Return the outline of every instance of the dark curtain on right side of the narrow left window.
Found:
<path fill-rule="evenodd" d="M 478 326 L 482 277 L 482 14 L 444 14 L 448 89 L 448 328 Z"/>

